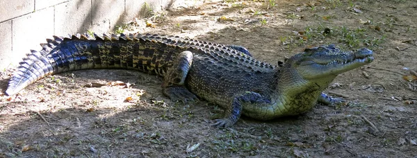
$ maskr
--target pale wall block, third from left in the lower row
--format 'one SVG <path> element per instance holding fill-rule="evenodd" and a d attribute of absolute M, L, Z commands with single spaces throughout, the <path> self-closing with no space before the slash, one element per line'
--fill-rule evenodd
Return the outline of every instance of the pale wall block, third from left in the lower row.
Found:
<path fill-rule="evenodd" d="M 55 35 L 85 33 L 92 27 L 92 0 L 73 0 L 55 7 Z"/>

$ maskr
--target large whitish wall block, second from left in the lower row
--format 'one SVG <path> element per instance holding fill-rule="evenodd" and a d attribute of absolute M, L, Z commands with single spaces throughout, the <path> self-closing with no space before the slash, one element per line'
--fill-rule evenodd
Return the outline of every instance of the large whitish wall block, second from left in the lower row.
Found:
<path fill-rule="evenodd" d="M 22 61 L 31 49 L 39 51 L 40 43 L 54 35 L 54 8 L 47 8 L 23 17 L 13 19 L 13 65 Z"/>

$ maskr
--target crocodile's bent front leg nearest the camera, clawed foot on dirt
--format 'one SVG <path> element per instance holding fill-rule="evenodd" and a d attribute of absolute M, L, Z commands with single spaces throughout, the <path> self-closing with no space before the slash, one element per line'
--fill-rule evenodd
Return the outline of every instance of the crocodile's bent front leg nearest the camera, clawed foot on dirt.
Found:
<path fill-rule="evenodd" d="M 254 91 L 246 91 L 245 94 L 236 96 L 231 103 L 231 108 L 226 110 L 227 116 L 223 119 L 216 119 L 213 126 L 218 128 L 228 128 L 234 125 L 242 114 L 243 107 L 252 107 L 251 109 L 263 109 L 262 107 L 268 107 L 271 102 L 268 98 L 261 96 Z M 262 113 L 262 112 L 259 112 Z"/>

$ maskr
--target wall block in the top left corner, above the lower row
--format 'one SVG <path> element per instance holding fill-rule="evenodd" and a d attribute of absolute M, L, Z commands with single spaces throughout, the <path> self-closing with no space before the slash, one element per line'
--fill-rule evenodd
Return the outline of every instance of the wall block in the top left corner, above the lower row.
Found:
<path fill-rule="evenodd" d="M 35 5 L 33 0 L 0 1 L 0 22 L 14 17 L 33 12 Z"/>

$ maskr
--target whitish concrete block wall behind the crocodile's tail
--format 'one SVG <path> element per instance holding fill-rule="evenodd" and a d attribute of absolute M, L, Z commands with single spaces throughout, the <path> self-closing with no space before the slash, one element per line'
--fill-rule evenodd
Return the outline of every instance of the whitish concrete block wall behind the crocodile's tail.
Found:
<path fill-rule="evenodd" d="M 0 69 L 17 67 L 52 35 L 107 33 L 140 17 L 144 6 L 160 11 L 173 3 L 181 0 L 0 0 Z"/>

